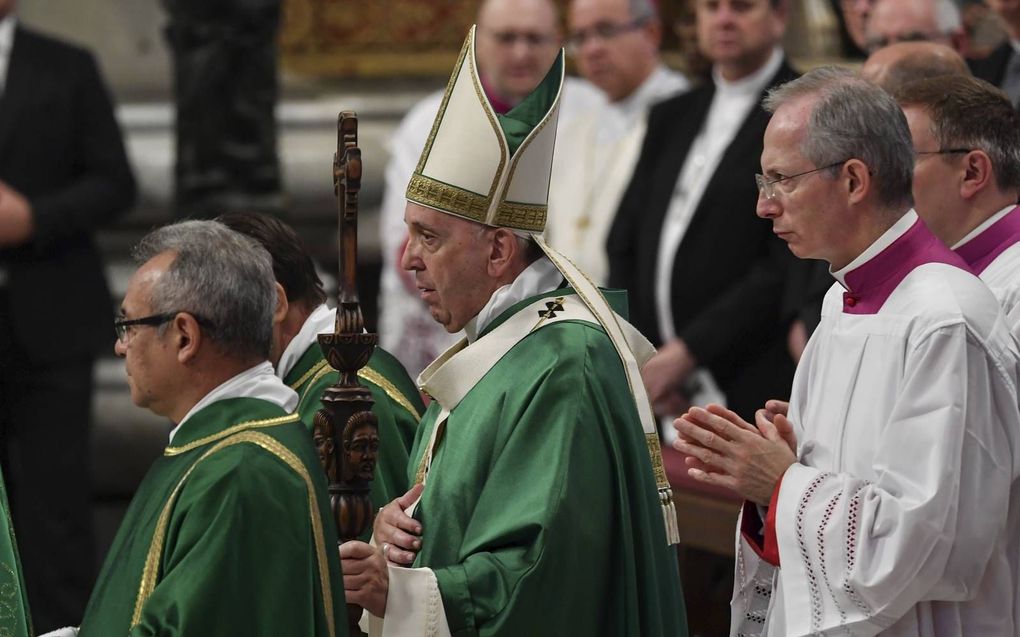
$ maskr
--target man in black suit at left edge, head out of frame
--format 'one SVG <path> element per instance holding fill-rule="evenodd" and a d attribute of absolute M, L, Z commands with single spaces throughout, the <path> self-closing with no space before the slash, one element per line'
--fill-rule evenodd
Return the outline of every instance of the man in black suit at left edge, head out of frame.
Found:
<path fill-rule="evenodd" d="M 13 5 L 0 0 L 0 467 L 45 631 L 81 619 L 93 583 L 93 362 L 113 342 L 93 232 L 136 188 L 92 56 Z"/>

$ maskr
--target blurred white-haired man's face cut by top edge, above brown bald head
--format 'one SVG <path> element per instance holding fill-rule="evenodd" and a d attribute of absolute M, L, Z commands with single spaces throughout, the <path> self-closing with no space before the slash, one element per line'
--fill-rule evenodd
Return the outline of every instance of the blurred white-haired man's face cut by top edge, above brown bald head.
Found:
<path fill-rule="evenodd" d="M 869 53 L 897 42 L 918 41 L 966 52 L 960 9 L 953 0 L 876 0 L 865 24 Z"/>

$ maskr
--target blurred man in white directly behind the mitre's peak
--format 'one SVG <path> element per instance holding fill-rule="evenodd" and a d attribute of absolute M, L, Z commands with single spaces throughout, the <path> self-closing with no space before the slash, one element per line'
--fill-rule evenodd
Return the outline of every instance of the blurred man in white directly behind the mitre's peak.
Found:
<path fill-rule="evenodd" d="M 504 113 L 538 86 L 559 52 L 562 34 L 557 9 L 551 0 L 484 0 L 476 19 L 482 90 L 493 108 Z M 561 125 L 600 99 L 585 83 L 568 78 L 563 88 Z M 442 100 L 442 91 L 428 95 L 408 111 L 394 131 L 379 213 L 379 344 L 393 352 L 412 377 L 454 341 L 429 318 L 413 281 L 400 268 L 400 256 L 407 244 L 404 189 Z"/>

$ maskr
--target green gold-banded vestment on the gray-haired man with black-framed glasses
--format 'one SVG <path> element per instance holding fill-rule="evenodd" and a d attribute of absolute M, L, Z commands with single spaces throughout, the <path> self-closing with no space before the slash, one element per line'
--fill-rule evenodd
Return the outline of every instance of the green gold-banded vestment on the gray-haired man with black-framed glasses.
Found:
<path fill-rule="evenodd" d="M 347 634 L 325 477 L 296 415 L 194 414 L 132 500 L 81 637 Z"/>

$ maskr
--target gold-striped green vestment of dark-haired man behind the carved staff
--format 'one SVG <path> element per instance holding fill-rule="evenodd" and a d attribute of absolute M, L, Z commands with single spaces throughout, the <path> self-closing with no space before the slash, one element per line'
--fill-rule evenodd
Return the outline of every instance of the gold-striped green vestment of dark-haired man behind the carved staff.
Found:
<path fill-rule="evenodd" d="M 284 383 L 298 392 L 298 414 L 309 431 L 315 412 L 322 407 L 322 391 L 336 384 L 339 377 L 322 358 L 318 343 L 309 347 L 294 369 L 287 372 Z M 372 505 L 378 509 L 410 488 L 407 459 L 425 406 L 404 366 L 381 348 L 375 348 L 358 378 L 372 392 L 372 412 L 379 426 L 379 455 L 371 491 Z M 367 542 L 371 534 L 369 527 L 361 539 Z"/>

